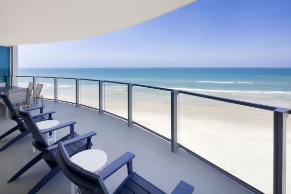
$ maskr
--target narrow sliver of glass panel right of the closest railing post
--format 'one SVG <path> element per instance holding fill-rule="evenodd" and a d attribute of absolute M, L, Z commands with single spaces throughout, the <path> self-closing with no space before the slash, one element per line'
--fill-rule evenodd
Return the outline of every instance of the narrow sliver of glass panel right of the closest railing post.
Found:
<path fill-rule="evenodd" d="M 286 169 L 287 169 L 287 176 L 286 176 L 286 185 L 287 185 L 287 191 L 286 194 L 291 194 L 291 115 L 289 114 L 287 118 L 287 155 L 286 155 Z"/>

